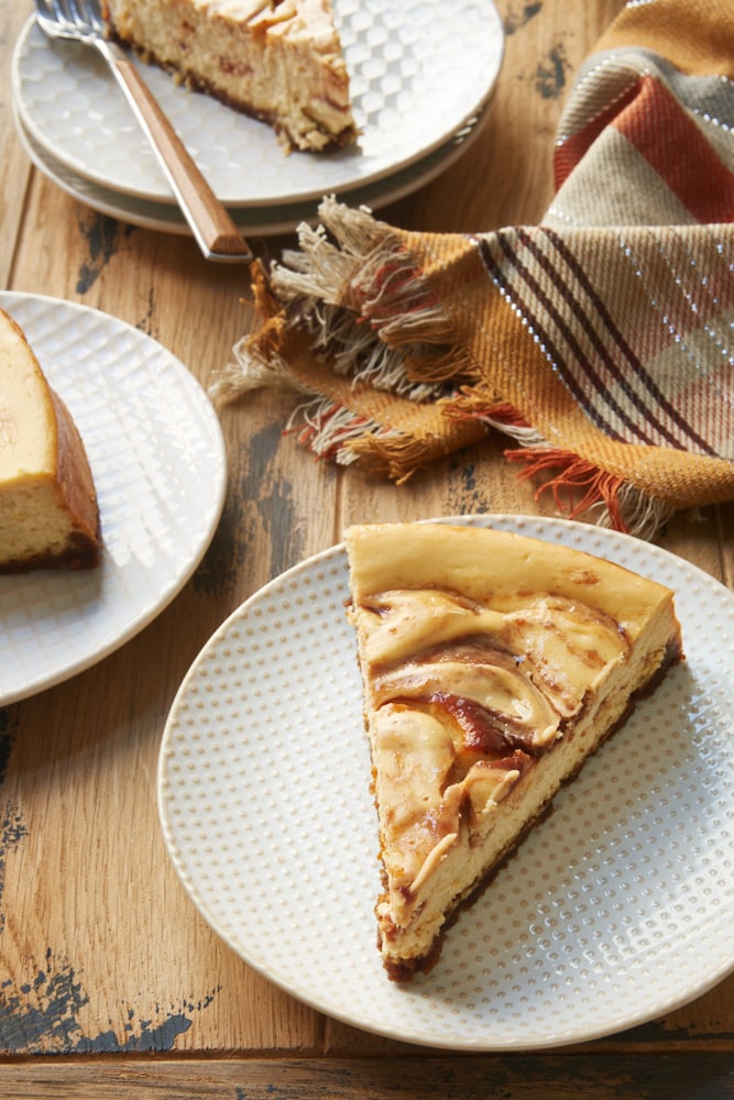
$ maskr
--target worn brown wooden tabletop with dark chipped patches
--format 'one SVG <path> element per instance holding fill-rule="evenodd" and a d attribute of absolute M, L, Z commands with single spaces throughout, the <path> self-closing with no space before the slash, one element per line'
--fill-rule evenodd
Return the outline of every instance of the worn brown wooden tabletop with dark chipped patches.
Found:
<path fill-rule="evenodd" d="M 551 198 L 565 97 L 622 2 L 497 6 L 506 50 L 486 128 L 441 177 L 381 211 L 394 224 L 535 222 Z M 32 167 L 10 86 L 30 11 L 28 0 L 0 6 L 2 286 L 121 318 L 206 386 L 244 330 L 248 270 L 208 264 L 190 238 L 99 215 Z M 267 255 L 294 238 L 250 243 Z M 264 392 L 221 410 L 223 516 L 172 605 L 94 668 L 0 710 L 0 1097 L 734 1096 L 734 978 L 603 1041 L 467 1056 L 380 1038 L 293 1000 L 185 894 L 158 827 L 156 765 L 176 689 L 213 629 L 352 519 L 539 507 L 502 440 L 396 488 L 316 463 L 282 435 L 289 407 Z M 734 586 L 733 530 L 734 507 L 712 507 L 677 516 L 659 542 Z"/>

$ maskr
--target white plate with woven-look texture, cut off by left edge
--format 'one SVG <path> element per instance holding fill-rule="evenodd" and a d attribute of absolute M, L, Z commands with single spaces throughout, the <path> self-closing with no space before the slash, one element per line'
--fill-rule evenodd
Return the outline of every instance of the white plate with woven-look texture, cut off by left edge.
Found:
<path fill-rule="evenodd" d="M 213 535 L 224 444 L 208 397 L 150 337 L 98 310 L 0 294 L 87 450 L 98 569 L 0 576 L 0 704 L 89 668 L 176 595 Z"/>

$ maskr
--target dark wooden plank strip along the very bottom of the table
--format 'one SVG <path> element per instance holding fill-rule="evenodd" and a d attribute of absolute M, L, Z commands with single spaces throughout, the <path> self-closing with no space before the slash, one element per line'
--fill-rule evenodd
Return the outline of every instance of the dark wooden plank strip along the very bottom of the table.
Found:
<path fill-rule="evenodd" d="M 44 1059 L 0 1066 L 0 1097 L 13 1100 L 717 1100 L 734 1092 L 728 1053 L 648 1055 L 431 1054 L 401 1059 L 319 1058 L 230 1062 Z"/>

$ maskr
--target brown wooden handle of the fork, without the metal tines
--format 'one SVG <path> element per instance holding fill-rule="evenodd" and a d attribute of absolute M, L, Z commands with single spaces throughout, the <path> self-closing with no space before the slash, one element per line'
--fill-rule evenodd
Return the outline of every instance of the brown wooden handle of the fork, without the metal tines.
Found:
<path fill-rule="evenodd" d="M 207 260 L 249 262 L 252 252 L 161 109 L 134 64 L 111 43 L 103 53 L 161 162 Z"/>

